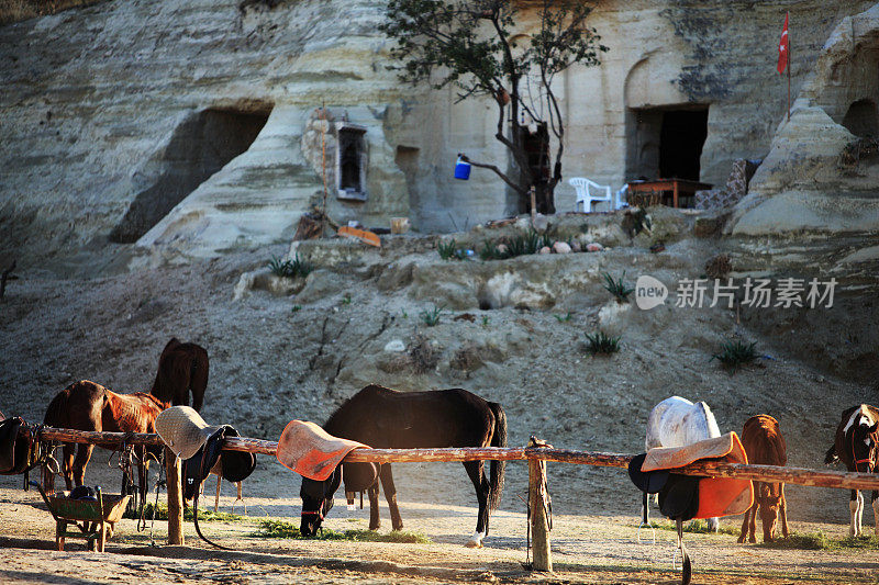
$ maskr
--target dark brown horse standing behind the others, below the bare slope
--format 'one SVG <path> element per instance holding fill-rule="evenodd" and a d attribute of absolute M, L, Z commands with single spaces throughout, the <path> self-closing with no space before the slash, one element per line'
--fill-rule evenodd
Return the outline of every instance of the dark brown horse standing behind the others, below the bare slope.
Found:
<path fill-rule="evenodd" d="M 162 350 L 158 371 L 151 394 L 171 405 L 189 406 L 199 412 L 208 387 L 208 351 L 196 344 L 181 344 L 176 337 Z"/>

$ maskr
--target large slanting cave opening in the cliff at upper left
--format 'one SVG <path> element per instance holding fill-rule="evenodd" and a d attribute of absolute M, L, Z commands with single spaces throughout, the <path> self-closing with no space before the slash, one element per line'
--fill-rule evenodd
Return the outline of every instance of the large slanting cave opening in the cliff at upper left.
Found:
<path fill-rule="evenodd" d="M 146 234 L 189 193 L 247 150 L 270 112 L 270 105 L 257 111 L 210 109 L 187 117 L 158 157 L 158 179 L 135 195 L 110 241 L 130 244 Z"/>

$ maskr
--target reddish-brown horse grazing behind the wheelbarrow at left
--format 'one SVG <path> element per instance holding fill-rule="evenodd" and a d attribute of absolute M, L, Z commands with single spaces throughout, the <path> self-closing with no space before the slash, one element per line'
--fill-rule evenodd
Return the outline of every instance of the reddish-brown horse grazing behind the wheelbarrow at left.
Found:
<path fill-rule="evenodd" d="M 43 423 L 51 427 L 104 432 L 155 432 L 156 417 L 169 405 L 152 394 L 135 392 L 118 394 L 100 384 L 80 380 L 64 389 L 46 408 Z M 103 447 L 103 446 L 100 446 Z M 110 448 L 110 447 L 108 447 Z M 63 448 L 62 473 L 67 490 L 74 484 L 82 485 L 86 465 L 89 463 L 93 445 L 82 443 L 76 452 L 76 443 L 65 442 Z M 158 447 L 133 446 L 137 462 L 138 495 L 145 502 L 148 466 L 147 452 L 158 455 Z M 52 491 L 54 476 L 46 468 L 44 485 Z"/>

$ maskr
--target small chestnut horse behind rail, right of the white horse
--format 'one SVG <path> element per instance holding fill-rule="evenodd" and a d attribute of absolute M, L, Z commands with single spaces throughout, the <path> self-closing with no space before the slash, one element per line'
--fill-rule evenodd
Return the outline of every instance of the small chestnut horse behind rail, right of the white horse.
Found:
<path fill-rule="evenodd" d="M 742 428 L 742 445 L 748 455 L 748 463 L 756 465 L 787 465 L 788 447 L 778 420 L 769 415 L 752 416 Z M 738 542 L 756 542 L 757 509 L 763 520 L 763 541 L 771 542 L 776 524 L 781 517 L 781 533 L 788 538 L 788 503 L 782 482 L 754 481 L 754 504 L 745 513 Z"/>

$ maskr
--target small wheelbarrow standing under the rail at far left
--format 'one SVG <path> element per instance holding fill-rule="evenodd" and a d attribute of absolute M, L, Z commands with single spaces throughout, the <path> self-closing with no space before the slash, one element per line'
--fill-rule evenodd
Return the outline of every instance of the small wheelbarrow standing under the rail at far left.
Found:
<path fill-rule="evenodd" d="M 40 490 L 48 511 L 55 518 L 55 545 L 59 551 L 64 550 L 65 539 L 81 538 L 88 541 L 90 551 L 103 552 L 104 544 L 113 536 L 113 528 L 131 499 L 131 495 L 103 495 L 100 486 L 96 490 L 97 500 L 47 496 L 43 486 L 36 482 L 30 483 Z M 78 528 L 79 532 L 68 530 L 70 525 Z"/>

